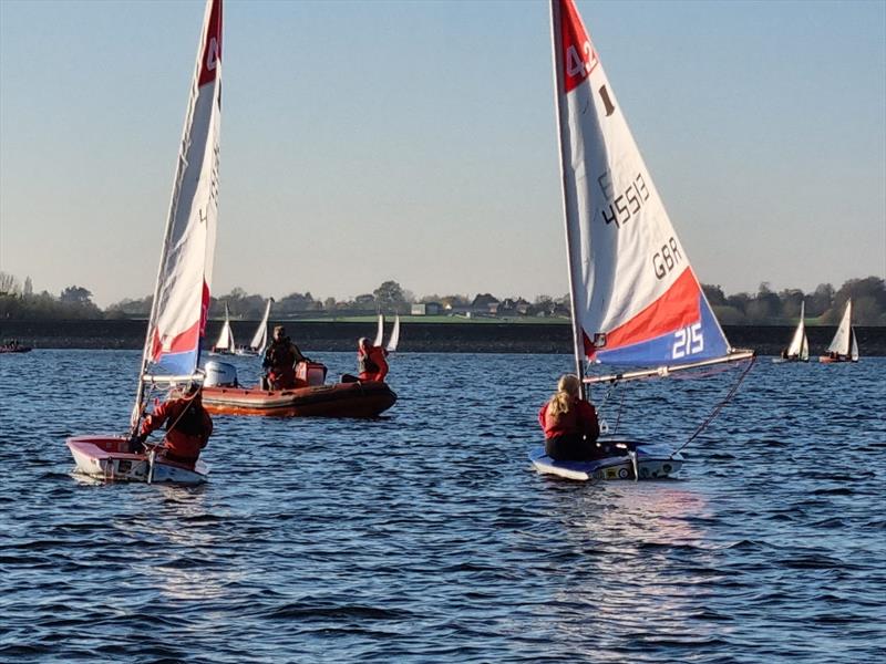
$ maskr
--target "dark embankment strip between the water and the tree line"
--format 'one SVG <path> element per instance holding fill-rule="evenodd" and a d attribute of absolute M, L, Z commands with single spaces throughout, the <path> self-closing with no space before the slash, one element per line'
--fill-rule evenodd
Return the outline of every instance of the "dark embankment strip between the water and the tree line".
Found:
<path fill-rule="evenodd" d="M 360 336 L 375 334 L 374 321 L 271 321 L 286 325 L 287 333 L 302 351 L 353 351 Z M 143 320 L 18 321 L 0 322 L 0 342 L 17 339 L 34 349 L 141 349 L 146 322 Z M 210 321 L 207 340 L 214 340 L 222 323 Z M 254 321 L 233 321 L 234 336 L 246 342 L 256 329 Z M 810 353 L 824 352 L 835 326 L 808 326 Z M 856 326 L 862 356 L 886 356 L 886 326 Z M 794 328 L 786 325 L 724 325 L 734 347 L 754 349 L 761 355 L 777 355 L 787 345 Z M 390 332 L 390 322 L 385 334 Z M 212 341 L 209 341 L 212 343 Z M 412 322 L 402 325 L 401 352 L 416 353 L 571 353 L 571 328 L 550 322 Z"/>

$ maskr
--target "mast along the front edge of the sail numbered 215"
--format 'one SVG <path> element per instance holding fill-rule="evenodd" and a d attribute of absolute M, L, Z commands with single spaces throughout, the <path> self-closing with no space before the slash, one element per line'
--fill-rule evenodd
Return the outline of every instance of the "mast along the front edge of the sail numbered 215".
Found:
<path fill-rule="evenodd" d="M 554 62 L 554 104 L 557 108 L 557 136 L 559 138 L 557 146 L 559 148 L 559 165 L 560 165 L 560 190 L 563 193 L 563 219 L 566 228 L 566 261 L 569 270 L 569 307 L 573 318 L 573 353 L 575 355 L 575 372 L 578 376 L 579 385 L 581 385 L 581 397 L 585 397 L 585 362 L 584 362 L 584 342 L 581 338 L 581 328 L 578 324 L 578 307 L 576 303 L 576 272 L 579 266 L 575 264 L 573 259 L 573 247 L 575 247 L 576 238 L 573 234 L 574 224 L 569 221 L 569 206 L 566 203 L 566 164 L 565 164 L 565 141 L 563 127 L 567 122 L 567 108 L 564 106 L 566 95 L 566 87 L 563 82 L 560 72 L 564 71 L 563 66 L 563 37 L 560 33 L 560 6 L 559 0 L 550 0 L 550 44 L 553 49 Z"/>

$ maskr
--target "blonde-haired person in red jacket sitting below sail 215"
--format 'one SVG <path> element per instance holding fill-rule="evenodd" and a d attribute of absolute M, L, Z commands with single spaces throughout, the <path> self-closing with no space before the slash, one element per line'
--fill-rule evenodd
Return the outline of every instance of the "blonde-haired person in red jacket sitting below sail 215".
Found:
<path fill-rule="evenodd" d="M 566 374 L 557 393 L 538 412 L 545 429 L 545 454 L 557 461 L 584 461 L 594 457 L 600 424 L 597 411 L 580 395 L 578 376 Z"/>

